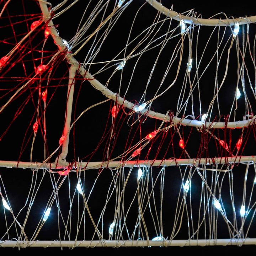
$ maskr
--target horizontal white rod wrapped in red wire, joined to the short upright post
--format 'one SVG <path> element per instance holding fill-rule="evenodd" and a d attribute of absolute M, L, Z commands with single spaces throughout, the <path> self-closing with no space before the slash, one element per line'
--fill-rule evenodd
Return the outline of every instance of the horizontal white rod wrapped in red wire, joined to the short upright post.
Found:
<path fill-rule="evenodd" d="M 109 162 L 79 162 L 79 166 L 73 165 L 73 169 L 100 169 L 100 168 L 118 168 L 118 167 L 146 167 L 146 166 L 178 166 L 178 165 L 197 165 L 206 166 L 212 164 L 237 164 L 237 163 L 254 163 L 256 156 L 236 156 L 222 158 L 201 158 L 201 159 L 164 159 L 164 160 L 133 160 L 133 161 L 109 161 Z M 55 166 L 55 164 L 42 162 L 17 162 L 17 161 L 1 161 L 0 167 L 7 168 L 23 168 L 23 169 L 60 169 L 70 166 L 67 162 L 66 166 Z M 225 171 L 225 170 L 223 170 Z"/>

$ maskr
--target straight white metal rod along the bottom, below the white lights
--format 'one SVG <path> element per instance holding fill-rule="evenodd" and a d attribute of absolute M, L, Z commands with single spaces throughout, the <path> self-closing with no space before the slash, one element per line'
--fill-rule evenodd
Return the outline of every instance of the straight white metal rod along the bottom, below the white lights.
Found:
<path fill-rule="evenodd" d="M 198 240 L 127 240 L 127 241 L 0 241 L 0 247 L 168 247 L 168 246 L 256 245 L 256 238 Z"/>

